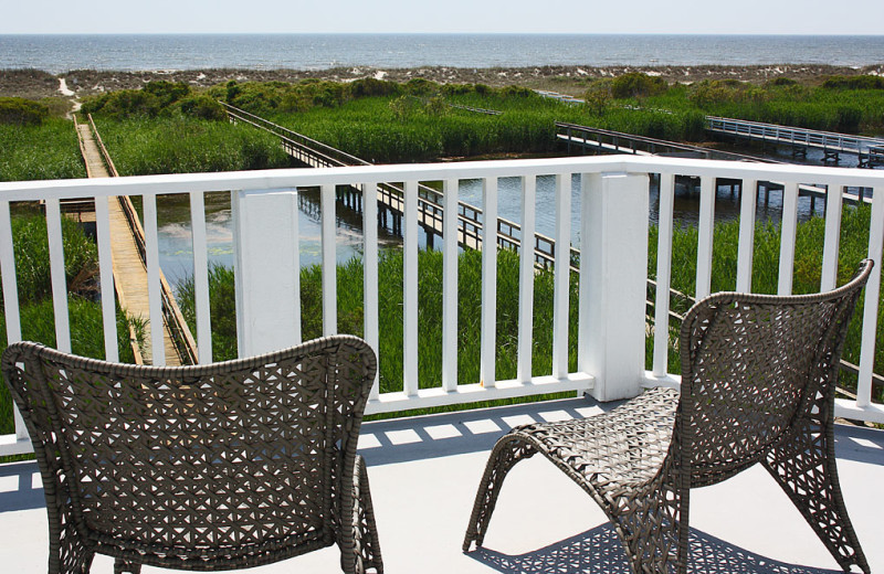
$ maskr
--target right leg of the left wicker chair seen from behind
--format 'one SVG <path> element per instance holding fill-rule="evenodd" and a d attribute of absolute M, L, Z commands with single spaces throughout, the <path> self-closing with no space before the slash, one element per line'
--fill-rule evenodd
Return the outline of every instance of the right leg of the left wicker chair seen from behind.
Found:
<path fill-rule="evenodd" d="M 375 508 L 368 486 L 368 472 L 361 456 L 356 456 L 354 465 L 354 513 L 352 543 L 346 549 L 341 544 L 340 562 L 345 572 L 362 574 L 376 572 L 383 574 L 383 561 L 378 544 L 378 528 L 375 523 Z"/>

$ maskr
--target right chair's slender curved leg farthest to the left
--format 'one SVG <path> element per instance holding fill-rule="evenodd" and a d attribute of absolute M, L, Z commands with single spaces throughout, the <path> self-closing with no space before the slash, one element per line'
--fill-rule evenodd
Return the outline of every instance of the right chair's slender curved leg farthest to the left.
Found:
<path fill-rule="evenodd" d="M 478 485 L 476 500 L 473 503 L 473 513 L 470 515 L 470 524 L 466 528 L 466 535 L 463 540 L 463 551 L 469 552 L 473 542 L 481 546 L 485 540 L 485 532 L 491 521 L 491 514 L 497 503 L 506 474 L 516 463 L 525 458 L 530 458 L 537 449 L 516 435 L 507 435 L 501 438 L 494 450 L 488 457 L 485 466 L 485 474 Z"/>

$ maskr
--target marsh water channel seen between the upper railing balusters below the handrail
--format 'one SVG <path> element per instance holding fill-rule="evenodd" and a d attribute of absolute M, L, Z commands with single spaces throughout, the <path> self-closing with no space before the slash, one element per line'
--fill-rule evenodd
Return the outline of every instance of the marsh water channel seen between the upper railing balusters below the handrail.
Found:
<path fill-rule="evenodd" d="M 459 189 L 460 200 L 483 208 L 482 181 L 463 180 Z M 299 236 L 301 265 L 309 266 L 322 262 L 320 245 L 320 209 L 317 189 L 301 190 L 299 199 Z M 652 179 L 650 193 L 650 220 L 656 223 L 659 206 L 659 188 Z M 536 231 L 554 236 L 555 225 L 555 178 L 540 177 L 537 180 L 535 204 Z M 757 220 L 778 222 L 782 212 L 782 192 L 761 188 L 757 202 Z M 571 243 L 579 245 L 580 238 L 580 177 L 571 179 Z M 522 181 L 518 178 L 503 178 L 498 181 L 498 215 L 519 223 L 522 220 Z M 193 272 L 193 248 L 190 228 L 190 203 L 185 194 L 164 195 L 158 198 L 158 225 L 160 265 L 169 283 L 177 285 Z M 699 211 L 699 193 L 691 185 L 676 184 L 674 217 L 676 225 L 696 225 Z M 822 201 L 815 201 L 815 214 L 822 213 Z M 811 200 L 802 195 L 799 199 L 799 221 L 811 217 Z M 729 185 L 719 185 L 716 190 L 715 219 L 717 222 L 739 217 L 739 193 Z M 337 219 L 337 259 L 344 263 L 351 257 L 360 256 L 362 251 L 362 216 L 346 208 L 340 202 L 336 209 Z M 389 221 L 389 220 L 388 220 Z M 227 192 L 209 193 L 206 196 L 206 226 L 209 245 L 210 265 L 233 265 L 233 223 L 231 220 L 230 194 Z M 387 228 L 379 228 L 381 249 L 401 247 L 401 238 Z M 427 247 L 427 235 L 419 232 L 421 248 Z M 438 241 L 435 245 L 441 245 Z"/>

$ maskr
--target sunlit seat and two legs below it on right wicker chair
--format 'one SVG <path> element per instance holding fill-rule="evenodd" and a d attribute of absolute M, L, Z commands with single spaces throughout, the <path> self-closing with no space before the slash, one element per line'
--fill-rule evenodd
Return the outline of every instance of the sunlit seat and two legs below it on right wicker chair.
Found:
<path fill-rule="evenodd" d="M 610 413 L 513 428 L 488 459 L 463 550 L 473 542 L 482 545 L 509 469 L 541 453 L 601 506 L 636 572 L 645 563 L 674 562 L 680 499 L 671 477 L 660 470 L 677 396 L 671 389 L 654 389 Z"/>

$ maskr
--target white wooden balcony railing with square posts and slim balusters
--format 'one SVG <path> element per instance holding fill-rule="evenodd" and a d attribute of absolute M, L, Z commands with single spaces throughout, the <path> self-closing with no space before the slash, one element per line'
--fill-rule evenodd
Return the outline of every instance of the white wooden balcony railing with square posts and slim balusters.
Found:
<path fill-rule="evenodd" d="M 522 255 L 519 274 L 519 338 L 517 376 L 501 381 L 495 374 L 496 340 L 496 249 L 483 251 L 481 380 L 457 384 L 457 243 L 455 217 L 446 217 L 443 237 L 443 341 L 442 385 L 421 389 L 418 381 L 418 183 L 442 181 L 444 208 L 456 212 L 457 182 L 482 180 L 484 194 L 483 234 L 495 244 L 497 181 L 522 178 L 522 236 L 534 234 L 536 178 L 554 176 L 557 181 L 555 240 L 568 244 L 571 237 L 571 190 L 573 174 L 580 176 L 579 217 L 581 251 L 578 369 L 568 369 L 569 253 L 556 249 L 554 299 L 552 374 L 532 376 L 533 249 Z M 827 196 L 825 243 L 822 255 L 821 289 L 835 285 L 839 234 L 844 188 L 873 189 L 869 256 L 876 266 L 865 294 L 859 389 L 855 400 L 839 400 L 838 415 L 884 423 L 884 408 L 872 402 L 873 359 L 877 330 L 877 302 L 882 243 L 884 242 L 884 173 L 838 168 L 769 166 L 722 161 L 594 157 L 546 160 L 465 162 L 444 164 L 360 166 L 352 168 L 271 170 L 236 173 L 151 176 L 106 180 L 60 180 L 0 183 L 0 269 L 4 300 L 7 337 L 21 338 L 18 288 L 10 224 L 10 203 L 43 201 L 50 238 L 50 259 L 54 296 L 57 346 L 70 350 L 70 329 L 64 255 L 61 237 L 60 200 L 93 198 L 96 204 L 97 245 L 101 265 L 104 336 L 107 357 L 117 357 L 115 300 L 107 201 L 109 196 L 133 195 L 144 200 L 149 297 L 149 326 L 161 326 L 161 297 L 158 274 L 156 198 L 159 194 L 190 195 L 197 344 L 201 361 L 211 360 L 207 236 L 203 194 L 234 190 L 231 201 L 234 219 L 236 268 L 236 311 L 241 355 L 294 344 L 301 340 L 297 193 L 303 188 L 322 190 L 323 215 L 323 325 L 330 334 L 337 326 L 335 187 L 356 185 L 365 194 L 365 338 L 378 344 L 378 238 L 377 204 L 371 199 L 379 182 L 404 182 L 403 216 L 403 389 L 379 393 L 377 385 L 369 413 L 403 411 L 453 403 L 486 401 L 509 396 L 561 391 L 586 391 L 607 401 L 633 396 L 643 386 L 677 384 L 669 373 L 669 297 L 659 297 L 655 307 L 653 369 L 644 369 L 645 281 L 648 276 L 649 174 L 660 176 L 660 243 L 657 245 L 657 289 L 669 291 L 672 258 L 673 199 L 676 177 L 698 178 L 701 189 L 696 296 L 709 293 L 712 280 L 713 222 L 716 179 L 738 180 L 743 189 L 755 189 L 759 181 L 783 185 L 782 241 L 779 255 L 779 293 L 792 288 L 799 185 L 813 184 L 830 190 Z M 834 192 L 832 192 L 834 191 Z M 514 199 L 506 198 L 506 201 Z M 750 290 L 753 270 L 756 194 L 744 193 L 737 262 L 737 289 Z M 491 243 L 488 243 L 491 242 Z M 159 332 L 154 337 L 156 341 Z M 155 362 L 162 363 L 162 350 L 155 350 Z M 30 449 L 27 433 L 17 419 L 15 436 L 2 437 L 0 455 Z"/>

